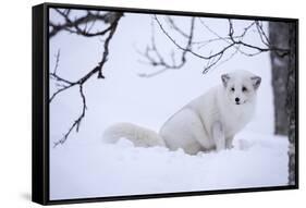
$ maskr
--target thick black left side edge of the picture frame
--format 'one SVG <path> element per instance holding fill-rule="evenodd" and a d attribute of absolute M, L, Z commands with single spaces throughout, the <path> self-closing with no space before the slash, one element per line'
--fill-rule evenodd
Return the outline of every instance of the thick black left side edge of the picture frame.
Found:
<path fill-rule="evenodd" d="M 32 8 L 32 201 L 47 204 L 44 117 L 45 4 Z"/>

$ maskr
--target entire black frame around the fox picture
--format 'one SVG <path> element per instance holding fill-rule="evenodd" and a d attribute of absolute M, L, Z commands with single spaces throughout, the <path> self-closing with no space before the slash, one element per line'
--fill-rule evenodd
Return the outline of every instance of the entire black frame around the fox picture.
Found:
<path fill-rule="evenodd" d="M 77 199 L 50 200 L 49 198 L 49 9 L 82 9 L 82 10 L 102 10 L 114 12 L 131 12 L 145 14 L 169 14 L 184 16 L 205 16 L 205 17 L 224 17 L 238 20 L 261 20 L 276 22 L 290 22 L 295 24 L 296 28 L 296 142 L 295 142 L 295 185 L 270 186 L 270 187 L 250 187 L 235 189 L 217 189 L 199 192 L 180 192 L 167 194 L 146 194 L 132 196 L 111 196 L 94 197 Z M 33 7 L 33 140 L 32 140 L 32 200 L 41 205 L 59 205 L 71 203 L 93 203 L 109 200 L 126 199 L 147 199 L 160 197 L 182 197 L 194 195 L 281 191 L 298 188 L 298 20 L 271 17 L 271 16 L 252 16 L 252 15 L 233 15 L 233 14 L 212 14 L 185 11 L 164 11 L 150 9 L 132 9 L 132 8 L 111 8 L 100 5 L 81 5 L 81 4 L 61 4 L 61 3 L 42 3 Z"/>

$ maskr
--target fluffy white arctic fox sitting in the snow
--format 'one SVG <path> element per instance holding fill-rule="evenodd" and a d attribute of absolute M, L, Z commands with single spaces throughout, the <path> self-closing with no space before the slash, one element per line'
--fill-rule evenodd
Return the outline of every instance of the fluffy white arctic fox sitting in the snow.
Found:
<path fill-rule="evenodd" d="M 186 154 L 232 148 L 235 134 L 252 119 L 261 78 L 247 71 L 221 75 L 222 84 L 192 100 L 174 113 L 159 134 L 131 123 L 106 130 L 103 138 L 114 143 L 124 137 L 135 146 L 182 148 Z"/>

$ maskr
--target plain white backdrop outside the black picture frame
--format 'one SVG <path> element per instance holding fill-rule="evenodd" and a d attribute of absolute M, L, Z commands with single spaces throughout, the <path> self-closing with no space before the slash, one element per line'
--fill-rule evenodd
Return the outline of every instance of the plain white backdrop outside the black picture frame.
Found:
<path fill-rule="evenodd" d="M 9 1 L 8 1 L 9 2 Z M 0 206 L 1 207 L 39 207 L 30 203 L 30 47 L 32 47 L 32 24 L 30 8 L 41 1 L 10 1 L 1 2 L 1 149 L 0 149 Z M 56 1 L 54 1 L 56 2 Z M 62 1 L 63 2 L 63 1 Z M 64 1 L 71 2 L 73 1 Z M 75 1 L 74 1 L 75 2 Z M 302 9 L 303 1 L 274 1 L 268 2 L 257 0 L 247 3 L 246 1 L 196 1 L 196 0 L 82 0 L 77 3 L 103 4 L 114 7 L 149 8 L 164 10 L 182 10 L 211 13 L 231 13 L 247 15 L 289 16 L 301 19 L 299 37 L 301 54 L 304 34 L 305 11 Z M 305 15 L 305 14 L 304 14 Z M 304 25 L 303 25 L 304 24 Z M 299 69 L 303 69 L 301 59 Z M 299 79 L 303 81 L 304 72 L 301 70 Z M 303 86 L 304 85 L 304 86 Z M 301 91 L 305 84 L 301 82 Z M 305 106 L 305 98 L 301 97 L 299 106 Z M 302 115 L 304 110 L 301 109 Z M 231 194 L 215 196 L 195 196 L 183 198 L 147 199 L 117 201 L 105 204 L 83 204 L 60 207 L 289 207 L 303 203 L 305 198 L 305 166 L 303 166 L 305 151 L 303 151 L 303 124 L 305 119 L 301 117 L 299 135 L 299 191 L 282 191 L 266 193 Z"/>

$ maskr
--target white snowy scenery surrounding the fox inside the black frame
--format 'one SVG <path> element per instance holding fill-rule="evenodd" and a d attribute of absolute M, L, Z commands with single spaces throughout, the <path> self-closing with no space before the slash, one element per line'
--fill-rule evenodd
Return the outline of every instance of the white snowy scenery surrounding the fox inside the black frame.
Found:
<path fill-rule="evenodd" d="M 79 132 L 73 132 L 66 143 L 57 148 L 52 143 L 61 138 L 79 113 L 78 89 L 65 91 L 50 106 L 50 198 L 285 185 L 287 139 L 273 135 L 269 54 L 253 58 L 237 54 L 205 75 L 201 74 L 203 60 L 188 56 L 182 70 L 151 78 L 139 77 L 138 73 L 155 71 L 137 61 L 140 57 L 136 48 L 146 47 L 151 29 L 150 16 L 139 15 L 125 14 L 120 22 L 103 70 L 107 78 L 93 78 L 84 85 L 88 109 Z M 58 19 L 53 12 L 50 17 Z M 188 28 L 188 22 L 182 20 L 180 26 Z M 207 24 L 219 34 L 228 33 L 224 20 L 207 19 Z M 247 21 L 235 21 L 235 32 L 242 32 L 247 24 Z M 196 29 L 198 37 L 201 33 L 207 39 L 213 37 L 198 22 Z M 164 35 L 159 34 L 156 38 L 163 51 L 175 49 L 166 41 Z M 250 33 L 246 40 L 252 44 L 260 41 L 256 33 Z M 58 71 L 73 81 L 93 69 L 102 52 L 99 38 L 61 33 L 50 41 L 51 70 L 59 49 Z M 105 129 L 115 122 L 132 122 L 158 131 L 181 107 L 220 84 L 220 74 L 235 69 L 260 75 L 262 83 L 256 115 L 236 135 L 233 149 L 189 156 L 182 150 L 170 151 L 161 147 L 136 148 L 124 139 L 114 145 L 101 142 Z M 54 90 L 54 86 L 50 89 Z"/>

